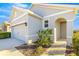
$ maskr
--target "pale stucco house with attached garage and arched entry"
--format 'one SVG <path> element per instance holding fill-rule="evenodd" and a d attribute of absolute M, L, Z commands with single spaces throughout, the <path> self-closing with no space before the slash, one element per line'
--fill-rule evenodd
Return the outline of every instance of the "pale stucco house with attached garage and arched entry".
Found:
<path fill-rule="evenodd" d="M 11 15 L 12 38 L 28 43 L 38 39 L 37 32 L 52 29 L 54 43 L 59 40 L 72 45 L 75 8 L 53 4 L 33 4 L 30 9 L 14 6 Z"/>

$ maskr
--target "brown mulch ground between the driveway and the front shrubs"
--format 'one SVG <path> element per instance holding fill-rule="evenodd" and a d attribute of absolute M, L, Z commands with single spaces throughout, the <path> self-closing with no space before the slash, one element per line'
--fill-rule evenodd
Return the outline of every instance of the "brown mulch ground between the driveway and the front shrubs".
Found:
<path fill-rule="evenodd" d="M 36 48 L 37 48 L 36 45 L 27 45 L 27 44 L 23 44 L 21 46 L 16 47 L 16 49 L 19 50 L 25 56 L 34 56 Z M 46 51 L 46 49 L 47 48 L 44 48 L 44 51 Z M 37 54 L 37 56 L 38 56 L 38 54 Z"/>

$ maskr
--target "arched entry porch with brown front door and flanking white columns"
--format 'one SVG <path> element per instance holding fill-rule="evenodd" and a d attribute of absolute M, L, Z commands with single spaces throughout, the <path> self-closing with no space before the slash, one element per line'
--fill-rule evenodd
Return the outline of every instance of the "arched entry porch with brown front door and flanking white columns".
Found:
<path fill-rule="evenodd" d="M 72 45 L 73 21 L 67 18 L 57 18 L 54 22 L 54 43 L 66 41 L 67 46 Z"/>

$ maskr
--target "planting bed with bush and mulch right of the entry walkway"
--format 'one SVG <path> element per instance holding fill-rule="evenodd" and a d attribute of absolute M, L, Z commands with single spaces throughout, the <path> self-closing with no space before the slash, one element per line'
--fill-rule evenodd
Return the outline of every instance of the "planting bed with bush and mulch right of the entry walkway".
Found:
<path fill-rule="evenodd" d="M 79 31 L 73 33 L 72 48 L 67 47 L 67 56 L 79 56 Z"/>

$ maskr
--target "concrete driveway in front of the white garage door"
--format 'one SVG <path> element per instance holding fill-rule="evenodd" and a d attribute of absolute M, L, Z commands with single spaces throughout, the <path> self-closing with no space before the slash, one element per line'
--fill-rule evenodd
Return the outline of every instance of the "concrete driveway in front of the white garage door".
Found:
<path fill-rule="evenodd" d="M 23 56 L 15 47 L 24 44 L 17 39 L 0 39 L 0 56 Z"/>

